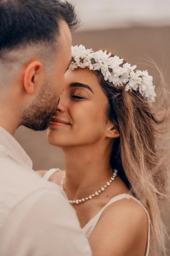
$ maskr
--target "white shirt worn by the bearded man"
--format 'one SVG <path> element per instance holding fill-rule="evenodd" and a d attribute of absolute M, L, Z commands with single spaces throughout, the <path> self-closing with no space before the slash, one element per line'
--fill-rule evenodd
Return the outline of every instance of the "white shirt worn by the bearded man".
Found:
<path fill-rule="evenodd" d="M 63 191 L 33 171 L 21 145 L 2 127 L 0 255 L 91 255 L 76 212 Z"/>

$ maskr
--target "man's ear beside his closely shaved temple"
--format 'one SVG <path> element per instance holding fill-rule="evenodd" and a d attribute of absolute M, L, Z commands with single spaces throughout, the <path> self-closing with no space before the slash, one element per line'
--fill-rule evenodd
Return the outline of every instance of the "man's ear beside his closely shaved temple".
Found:
<path fill-rule="evenodd" d="M 38 60 L 34 60 L 31 61 L 25 68 L 23 76 L 23 86 L 28 94 L 33 94 L 35 92 L 36 76 L 39 74 L 41 67 L 41 62 Z"/>

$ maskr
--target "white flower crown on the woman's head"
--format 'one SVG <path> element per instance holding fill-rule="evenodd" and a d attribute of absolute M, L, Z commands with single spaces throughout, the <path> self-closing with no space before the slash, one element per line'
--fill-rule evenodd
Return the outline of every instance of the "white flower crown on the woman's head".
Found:
<path fill-rule="evenodd" d="M 118 56 L 110 57 L 111 53 L 107 51 L 93 52 L 92 49 L 85 49 L 81 45 L 72 46 L 73 61 L 70 64 L 70 69 L 85 68 L 90 70 L 100 70 L 105 81 L 113 83 L 114 86 L 125 86 L 125 91 L 139 91 L 139 93 L 148 101 L 154 101 L 156 97 L 155 86 L 153 86 L 153 77 L 148 75 L 148 71 L 134 69 L 129 63 L 123 63 L 123 59 Z"/>

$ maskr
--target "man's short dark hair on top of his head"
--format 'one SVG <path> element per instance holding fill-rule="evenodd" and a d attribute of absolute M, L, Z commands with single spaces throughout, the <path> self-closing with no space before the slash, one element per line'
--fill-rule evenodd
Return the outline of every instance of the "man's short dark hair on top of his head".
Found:
<path fill-rule="evenodd" d="M 78 26 L 74 7 L 58 0 L 0 0 L 0 52 L 38 41 L 54 42 L 63 19 Z"/>

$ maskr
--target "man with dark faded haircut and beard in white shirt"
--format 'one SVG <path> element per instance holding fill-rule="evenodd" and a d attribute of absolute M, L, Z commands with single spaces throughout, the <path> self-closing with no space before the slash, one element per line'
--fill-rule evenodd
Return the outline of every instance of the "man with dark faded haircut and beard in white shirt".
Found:
<path fill-rule="evenodd" d="M 32 170 L 13 138 L 44 130 L 71 61 L 74 8 L 57 0 L 0 0 L 0 255 L 88 256 L 65 194 Z"/>

